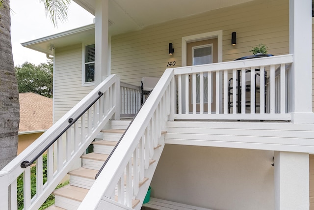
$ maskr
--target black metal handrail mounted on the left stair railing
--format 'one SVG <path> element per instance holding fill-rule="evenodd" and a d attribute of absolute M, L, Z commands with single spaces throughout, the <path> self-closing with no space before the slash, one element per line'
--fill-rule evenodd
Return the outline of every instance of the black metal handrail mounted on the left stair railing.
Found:
<path fill-rule="evenodd" d="M 104 93 L 101 92 L 101 91 L 99 91 L 99 92 L 98 92 L 98 97 L 97 97 L 86 109 L 84 109 L 84 111 L 81 112 L 81 113 L 79 114 L 79 116 L 78 116 L 76 119 L 70 118 L 70 119 L 68 120 L 69 125 L 68 125 L 65 129 L 63 129 L 63 130 L 61 131 L 61 133 L 59 133 L 59 134 L 52 140 L 52 142 L 49 143 L 49 145 L 47 145 L 43 150 L 41 150 L 41 152 L 39 152 L 39 154 L 37 154 L 31 161 L 27 161 L 27 160 L 23 161 L 23 162 L 21 163 L 21 168 L 26 168 L 26 167 L 32 165 L 46 150 L 48 150 L 48 149 L 52 146 L 52 144 L 53 144 L 57 139 L 59 139 L 59 138 L 65 133 L 65 131 L 67 131 L 67 130 L 68 130 L 68 129 L 69 129 L 69 128 L 70 128 L 70 127 L 71 127 L 91 106 L 93 106 L 94 103 L 95 103 L 96 101 L 98 101 L 98 99 L 99 99 L 100 97 L 102 97 L 103 95 L 104 95 Z"/>

